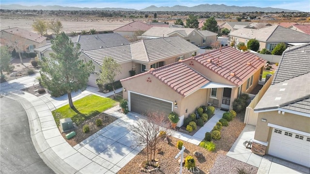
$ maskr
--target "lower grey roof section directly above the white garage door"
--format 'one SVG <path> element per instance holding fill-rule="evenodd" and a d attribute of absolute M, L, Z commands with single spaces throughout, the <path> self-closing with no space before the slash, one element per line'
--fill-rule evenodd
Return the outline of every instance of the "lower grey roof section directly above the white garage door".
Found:
<path fill-rule="evenodd" d="M 310 117 L 310 73 L 271 85 L 254 111 L 287 109 Z"/>

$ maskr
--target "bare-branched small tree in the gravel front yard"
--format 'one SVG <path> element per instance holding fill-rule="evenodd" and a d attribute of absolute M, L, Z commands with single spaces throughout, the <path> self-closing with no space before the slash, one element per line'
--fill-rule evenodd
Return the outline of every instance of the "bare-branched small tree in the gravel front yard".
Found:
<path fill-rule="evenodd" d="M 131 128 L 137 134 L 136 141 L 146 145 L 147 160 L 151 164 L 155 159 L 156 144 L 161 140 L 160 132 L 164 131 L 168 134 L 169 124 L 164 113 L 149 112 L 146 115 L 146 119 L 139 119 Z"/>

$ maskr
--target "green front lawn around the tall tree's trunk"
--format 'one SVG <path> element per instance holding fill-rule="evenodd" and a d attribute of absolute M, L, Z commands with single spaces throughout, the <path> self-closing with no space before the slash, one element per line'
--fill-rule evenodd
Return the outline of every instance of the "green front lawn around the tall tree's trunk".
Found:
<path fill-rule="evenodd" d="M 73 111 L 69 104 L 52 111 L 57 126 L 59 126 L 59 120 L 62 118 L 71 118 L 74 123 L 80 125 L 85 120 L 91 119 L 93 116 L 112 108 L 115 106 L 116 101 L 108 97 L 88 95 L 73 102 L 73 104 L 80 113 Z"/>

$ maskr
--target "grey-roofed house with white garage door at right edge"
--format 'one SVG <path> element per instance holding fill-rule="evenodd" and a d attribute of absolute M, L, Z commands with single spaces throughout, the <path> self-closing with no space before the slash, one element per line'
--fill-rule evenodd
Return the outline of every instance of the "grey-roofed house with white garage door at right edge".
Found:
<path fill-rule="evenodd" d="M 310 44 L 287 48 L 258 112 L 252 151 L 310 167 Z"/>

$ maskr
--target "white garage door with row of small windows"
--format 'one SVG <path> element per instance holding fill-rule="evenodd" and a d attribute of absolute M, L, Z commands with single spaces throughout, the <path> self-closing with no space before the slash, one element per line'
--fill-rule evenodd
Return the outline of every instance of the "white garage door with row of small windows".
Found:
<path fill-rule="evenodd" d="M 310 137 L 273 128 L 268 154 L 310 167 Z"/>

